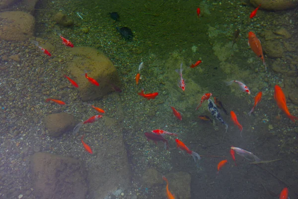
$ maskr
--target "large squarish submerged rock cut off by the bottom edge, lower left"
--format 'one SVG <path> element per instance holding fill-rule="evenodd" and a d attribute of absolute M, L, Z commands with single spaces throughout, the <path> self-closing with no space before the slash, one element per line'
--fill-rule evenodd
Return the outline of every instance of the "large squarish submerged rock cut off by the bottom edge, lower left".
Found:
<path fill-rule="evenodd" d="M 87 171 L 82 162 L 50 153 L 31 156 L 30 170 L 36 199 L 85 199 Z"/>

